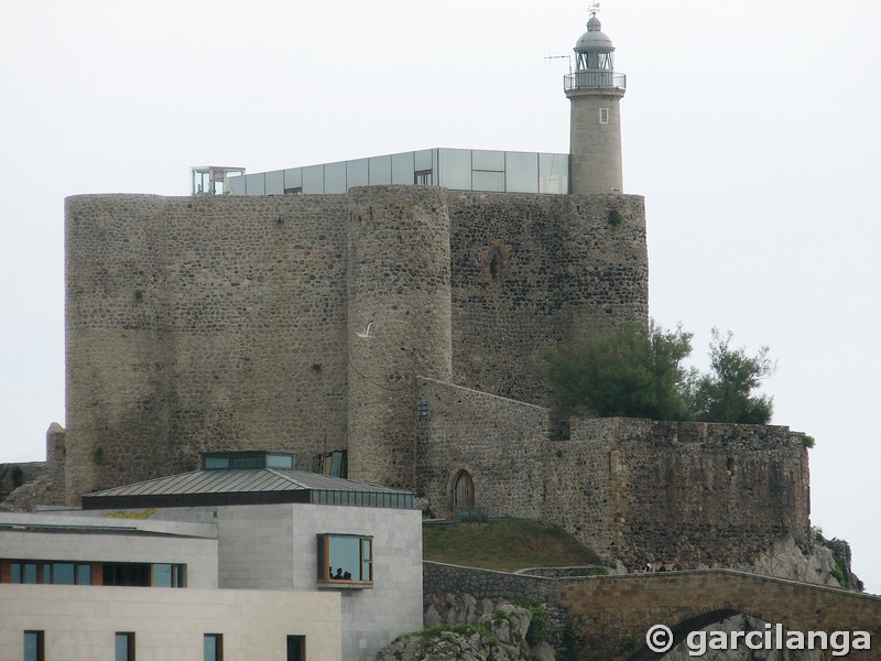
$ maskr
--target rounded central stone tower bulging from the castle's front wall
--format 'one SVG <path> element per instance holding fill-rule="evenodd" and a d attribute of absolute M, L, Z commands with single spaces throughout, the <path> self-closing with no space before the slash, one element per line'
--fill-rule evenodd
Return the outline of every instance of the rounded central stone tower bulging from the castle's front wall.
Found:
<path fill-rule="evenodd" d="M 349 195 L 349 477 L 412 489 L 416 377 L 453 376 L 446 195 L 433 186 Z"/>

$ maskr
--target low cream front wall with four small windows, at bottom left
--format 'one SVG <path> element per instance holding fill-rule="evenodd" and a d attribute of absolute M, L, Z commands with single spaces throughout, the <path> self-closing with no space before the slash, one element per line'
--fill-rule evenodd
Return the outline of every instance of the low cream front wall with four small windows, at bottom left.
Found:
<path fill-rule="evenodd" d="M 139 661 L 202 661 L 205 633 L 227 659 L 286 659 L 305 636 L 311 661 L 339 661 L 338 594 L 0 585 L 0 658 L 21 659 L 24 631 L 44 631 L 45 658 L 112 661 L 116 632 L 133 632 Z"/>

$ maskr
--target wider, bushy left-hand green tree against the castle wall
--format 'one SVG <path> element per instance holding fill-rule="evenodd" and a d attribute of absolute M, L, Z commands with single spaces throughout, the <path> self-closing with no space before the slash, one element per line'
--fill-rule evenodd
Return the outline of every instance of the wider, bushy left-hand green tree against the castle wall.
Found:
<path fill-rule="evenodd" d="M 686 420 L 689 378 L 682 361 L 692 351 L 692 334 L 651 322 L 617 330 L 583 334 L 545 354 L 547 372 L 562 414 L 584 411 L 600 416 Z"/>

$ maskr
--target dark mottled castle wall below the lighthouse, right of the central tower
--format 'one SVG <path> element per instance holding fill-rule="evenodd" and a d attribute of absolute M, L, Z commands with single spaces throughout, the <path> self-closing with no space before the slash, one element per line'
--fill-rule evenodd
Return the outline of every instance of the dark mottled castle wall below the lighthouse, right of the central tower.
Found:
<path fill-rule="evenodd" d="M 450 192 L 449 214 L 454 382 L 547 405 L 548 346 L 648 322 L 641 196 Z"/>

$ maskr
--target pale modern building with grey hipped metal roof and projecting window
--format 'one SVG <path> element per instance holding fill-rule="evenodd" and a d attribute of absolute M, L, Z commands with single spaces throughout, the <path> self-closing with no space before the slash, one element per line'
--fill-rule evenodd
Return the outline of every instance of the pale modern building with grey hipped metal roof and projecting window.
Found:
<path fill-rule="evenodd" d="M 0 514 L 2 659 L 355 661 L 421 628 L 413 495 L 285 453 Z"/>

